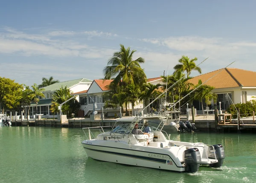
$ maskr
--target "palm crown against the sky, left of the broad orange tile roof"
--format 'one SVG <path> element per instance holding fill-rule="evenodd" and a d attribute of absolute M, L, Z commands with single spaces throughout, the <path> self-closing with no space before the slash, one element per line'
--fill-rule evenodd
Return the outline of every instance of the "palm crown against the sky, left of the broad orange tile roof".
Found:
<path fill-rule="evenodd" d="M 180 64 L 177 64 L 176 66 L 174 66 L 174 69 L 175 71 L 177 70 L 186 71 L 187 77 L 189 77 L 190 71 L 192 71 L 192 69 L 195 69 L 201 74 L 202 72 L 201 68 L 200 67 L 196 68 L 196 65 L 195 65 L 196 60 L 198 60 L 197 57 L 190 60 L 189 57 L 182 55 L 182 57 L 178 60 Z"/>

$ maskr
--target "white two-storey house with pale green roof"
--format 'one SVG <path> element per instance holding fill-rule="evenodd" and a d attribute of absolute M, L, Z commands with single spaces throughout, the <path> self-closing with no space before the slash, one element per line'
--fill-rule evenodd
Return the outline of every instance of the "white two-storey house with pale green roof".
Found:
<path fill-rule="evenodd" d="M 76 92 L 81 92 L 84 90 L 89 89 L 90 85 L 92 83 L 92 80 L 88 80 L 85 78 L 81 79 L 76 79 L 76 80 L 69 80 L 69 81 L 64 81 L 60 83 L 55 83 L 49 86 L 44 87 L 44 96 L 45 98 L 40 97 L 39 102 L 38 102 L 38 114 L 43 114 L 42 117 L 45 118 L 51 118 L 53 117 L 52 112 L 49 110 L 51 105 L 52 105 L 52 94 L 58 90 L 61 89 L 61 86 L 69 88 L 71 92 L 76 93 Z M 78 100 L 78 97 L 76 98 Z M 36 113 L 36 106 L 35 103 L 32 102 L 30 105 L 30 116 L 32 117 Z M 28 106 L 24 107 L 25 109 L 25 114 L 28 112 Z"/>

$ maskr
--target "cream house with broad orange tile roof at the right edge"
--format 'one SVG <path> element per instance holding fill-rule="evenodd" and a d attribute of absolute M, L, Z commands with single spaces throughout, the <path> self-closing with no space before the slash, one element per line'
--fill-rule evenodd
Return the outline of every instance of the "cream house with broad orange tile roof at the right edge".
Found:
<path fill-rule="evenodd" d="M 198 80 L 202 80 L 202 83 L 208 80 L 204 84 L 215 88 L 212 92 L 218 95 L 217 106 L 219 109 L 219 102 L 221 102 L 221 110 L 226 110 L 232 101 L 235 104 L 246 103 L 256 96 L 256 72 L 254 71 L 236 68 L 219 69 L 193 77 L 189 82 L 197 84 Z"/>

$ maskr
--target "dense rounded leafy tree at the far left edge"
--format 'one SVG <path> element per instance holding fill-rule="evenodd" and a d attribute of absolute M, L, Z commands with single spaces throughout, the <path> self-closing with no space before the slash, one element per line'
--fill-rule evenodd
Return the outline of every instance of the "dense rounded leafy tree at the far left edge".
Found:
<path fill-rule="evenodd" d="M 17 109 L 20 106 L 22 98 L 23 86 L 15 83 L 9 78 L 0 77 L 0 103 L 2 105 L 2 113 L 4 109 Z"/>

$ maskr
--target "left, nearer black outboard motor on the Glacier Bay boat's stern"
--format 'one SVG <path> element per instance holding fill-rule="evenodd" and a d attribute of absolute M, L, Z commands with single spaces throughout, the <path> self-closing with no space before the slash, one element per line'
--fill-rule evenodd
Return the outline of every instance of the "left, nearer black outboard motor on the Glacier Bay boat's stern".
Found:
<path fill-rule="evenodd" d="M 183 152 L 186 172 L 198 172 L 201 161 L 201 155 L 198 148 L 190 148 Z"/>

